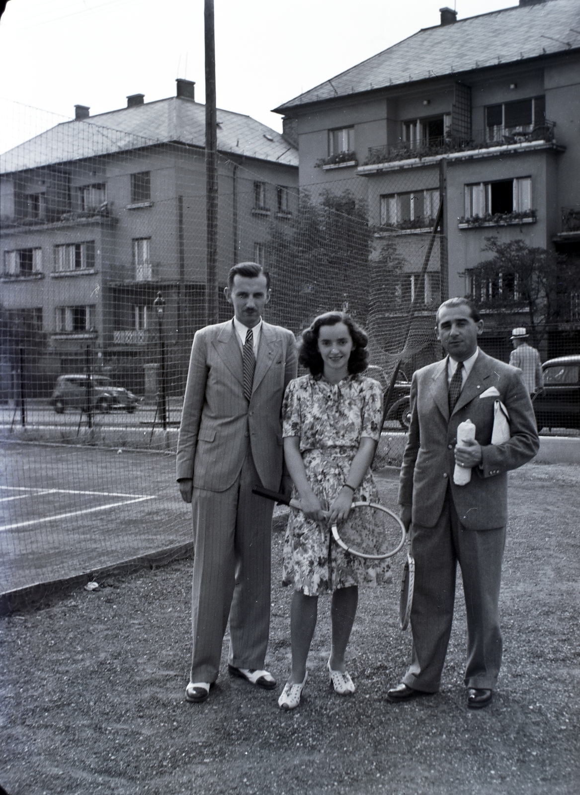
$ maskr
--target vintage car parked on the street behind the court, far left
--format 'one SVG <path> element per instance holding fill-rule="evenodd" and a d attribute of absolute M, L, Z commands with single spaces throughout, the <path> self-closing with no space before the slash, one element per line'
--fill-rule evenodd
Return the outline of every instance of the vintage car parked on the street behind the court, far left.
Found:
<path fill-rule="evenodd" d="M 89 385 L 87 375 L 59 375 L 56 378 L 51 404 L 57 414 L 64 409 L 87 410 L 88 396 L 91 396 L 91 408 L 109 412 L 111 409 L 125 409 L 133 413 L 139 398 L 123 386 L 114 386 L 111 378 L 106 375 L 92 375 Z"/>

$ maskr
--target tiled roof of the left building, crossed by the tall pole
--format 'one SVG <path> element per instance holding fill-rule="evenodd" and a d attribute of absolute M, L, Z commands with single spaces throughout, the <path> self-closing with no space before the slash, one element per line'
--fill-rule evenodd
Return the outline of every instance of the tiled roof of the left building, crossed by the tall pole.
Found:
<path fill-rule="evenodd" d="M 298 166 L 298 151 L 255 118 L 218 110 L 217 121 L 221 153 Z M 2 154 L 0 173 L 166 142 L 204 147 L 204 138 L 205 106 L 192 99 L 170 97 L 57 124 Z"/>

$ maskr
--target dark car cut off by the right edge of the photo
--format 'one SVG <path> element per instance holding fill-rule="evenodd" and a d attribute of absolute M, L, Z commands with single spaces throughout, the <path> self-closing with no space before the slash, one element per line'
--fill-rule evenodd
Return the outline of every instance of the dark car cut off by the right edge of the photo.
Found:
<path fill-rule="evenodd" d="M 580 354 L 548 359 L 532 399 L 538 429 L 580 428 Z"/>

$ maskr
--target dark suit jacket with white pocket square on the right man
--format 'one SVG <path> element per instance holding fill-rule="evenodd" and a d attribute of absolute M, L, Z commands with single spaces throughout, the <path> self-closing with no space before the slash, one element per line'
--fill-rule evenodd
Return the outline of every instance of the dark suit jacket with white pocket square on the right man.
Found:
<path fill-rule="evenodd" d="M 480 397 L 496 387 L 508 409 L 512 438 L 491 444 L 493 404 L 498 396 Z M 479 351 L 450 417 L 447 358 L 417 370 L 411 382 L 411 426 L 403 454 L 399 503 L 413 506 L 413 522 L 433 527 L 451 482 L 457 514 L 469 529 L 502 527 L 508 517 L 508 476 L 539 449 L 534 411 L 520 370 Z M 471 420 L 481 444 L 481 468 L 473 467 L 465 486 L 453 483 L 457 425 Z"/>

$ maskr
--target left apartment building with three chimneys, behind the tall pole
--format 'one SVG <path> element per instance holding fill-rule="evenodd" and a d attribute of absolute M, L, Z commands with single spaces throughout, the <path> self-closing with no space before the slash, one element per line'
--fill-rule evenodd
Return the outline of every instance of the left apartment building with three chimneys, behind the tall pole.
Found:
<path fill-rule="evenodd" d="M 52 382 L 84 366 L 87 347 L 102 366 L 142 371 L 159 292 L 184 369 L 204 325 L 204 110 L 194 83 L 177 80 L 169 99 L 132 95 L 95 116 L 77 105 L 73 121 L 2 155 L 0 304 L 8 326 L 44 337 Z M 223 288 L 236 262 L 267 264 L 271 220 L 298 206 L 298 152 L 249 116 L 219 110 L 217 122 Z"/>

